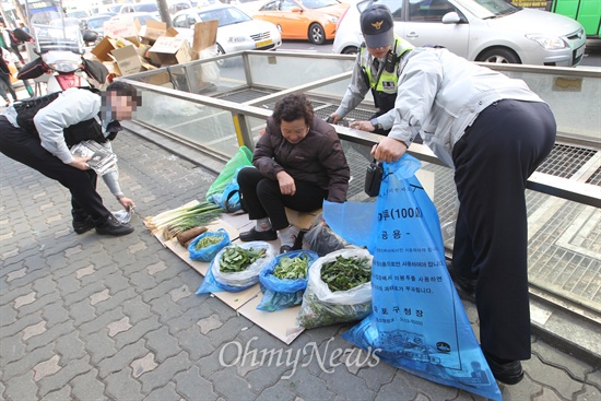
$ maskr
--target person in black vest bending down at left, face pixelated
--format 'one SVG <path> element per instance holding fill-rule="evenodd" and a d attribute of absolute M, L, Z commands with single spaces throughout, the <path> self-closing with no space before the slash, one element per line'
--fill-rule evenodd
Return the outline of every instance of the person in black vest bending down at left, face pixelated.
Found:
<path fill-rule="evenodd" d="M 32 125 L 20 119 L 20 127 L 17 111 L 11 106 L 0 116 L 0 152 L 69 189 L 75 233 L 96 228 L 97 234 L 129 234 L 133 227 L 121 224 L 103 204 L 96 191 L 97 174 L 86 165 L 90 157 L 73 156 L 69 148 L 85 140 L 109 148 L 121 129 L 119 121 L 131 119 L 140 105 L 135 89 L 116 81 L 102 94 L 75 87 L 64 91 L 35 114 Z M 116 175 L 105 178 L 119 203 L 132 208 L 133 201 L 122 194 Z"/>

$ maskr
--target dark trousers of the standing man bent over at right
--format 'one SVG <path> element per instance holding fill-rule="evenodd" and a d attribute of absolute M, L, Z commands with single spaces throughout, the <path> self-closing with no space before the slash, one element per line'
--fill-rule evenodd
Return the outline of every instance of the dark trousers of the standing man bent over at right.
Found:
<path fill-rule="evenodd" d="M 453 269 L 478 279 L 480 342 L 506 359 L 530 358 L 526 181 L 555 143 L 546 104 L 500 101 L 452 152 L 459 197 Z"/>

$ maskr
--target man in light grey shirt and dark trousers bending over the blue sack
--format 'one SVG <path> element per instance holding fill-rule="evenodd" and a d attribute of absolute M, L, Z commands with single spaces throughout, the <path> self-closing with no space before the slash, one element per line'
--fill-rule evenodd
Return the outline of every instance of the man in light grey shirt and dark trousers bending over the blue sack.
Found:
<path fill-rule="evenodd" d="M 526 182 L 553 149 L 555 118 L 523 81 L 446 49 L 408 51 L 400 68 L 394 123 L 372 153 L 397 161 L 420 133 L 455 168 L 450 273 L 460 291 L 475 292 L 493 375 L 515 385 L 531 353 Z"/>

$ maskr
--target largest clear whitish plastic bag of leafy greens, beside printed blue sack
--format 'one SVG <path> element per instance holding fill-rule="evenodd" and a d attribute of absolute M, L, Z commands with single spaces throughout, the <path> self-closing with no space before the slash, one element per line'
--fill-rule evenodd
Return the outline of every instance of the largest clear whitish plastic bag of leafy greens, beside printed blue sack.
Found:
<path fill-rule="evenodd" d="M 341 249 L 317 259 L 309 269 L 297 323 L 313 329 L 369 315 L 373 259 L 363 248 Z"/>

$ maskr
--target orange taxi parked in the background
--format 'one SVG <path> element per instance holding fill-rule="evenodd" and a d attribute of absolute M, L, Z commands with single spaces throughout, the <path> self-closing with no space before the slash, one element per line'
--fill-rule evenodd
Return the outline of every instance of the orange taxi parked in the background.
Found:
<path fill-rule="evenodd" d="M 334 38 L 338 20 L 346 9 L 349 4 L 339 0 L 269 0 L 252 17 L 275 24 L 283 39 L 322 45 Z"/>

